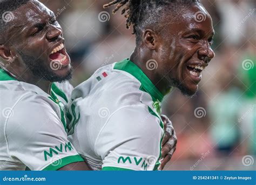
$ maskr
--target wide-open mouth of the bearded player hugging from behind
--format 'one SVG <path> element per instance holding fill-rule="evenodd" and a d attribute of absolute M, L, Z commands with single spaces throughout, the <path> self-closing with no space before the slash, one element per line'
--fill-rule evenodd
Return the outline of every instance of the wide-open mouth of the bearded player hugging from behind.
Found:
<path fill-rule="evenodd" d="M 61 64 L 62 66 L 69 65 L 70 63 L 68 54 L 65 52 L 63 43 L 52 50 L 51 54 L 49 55 L 49 58 L 52 61 Z"/>

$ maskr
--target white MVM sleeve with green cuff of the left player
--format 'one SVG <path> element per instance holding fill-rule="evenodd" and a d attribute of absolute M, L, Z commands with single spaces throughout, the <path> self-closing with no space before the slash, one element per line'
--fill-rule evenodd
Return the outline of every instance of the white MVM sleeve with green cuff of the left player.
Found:
<path fill-rule="evenodd" d="M 29 93 L 13 108 L 6 124 L 8 153 L 31 170 L 57 170 L 83 161 L 68 141 L 64 125 L 47 97 Z"/>

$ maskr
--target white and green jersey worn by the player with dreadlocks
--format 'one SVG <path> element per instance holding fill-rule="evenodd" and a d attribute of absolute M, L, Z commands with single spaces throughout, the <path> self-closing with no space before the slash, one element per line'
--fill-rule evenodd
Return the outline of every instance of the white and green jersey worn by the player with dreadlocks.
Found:
<path fill-rule="evenodd" d="M 100 68 L 69 104 L 69 140 L 94 170 L 156 170 L 163 95 L 130 60 Z"/>

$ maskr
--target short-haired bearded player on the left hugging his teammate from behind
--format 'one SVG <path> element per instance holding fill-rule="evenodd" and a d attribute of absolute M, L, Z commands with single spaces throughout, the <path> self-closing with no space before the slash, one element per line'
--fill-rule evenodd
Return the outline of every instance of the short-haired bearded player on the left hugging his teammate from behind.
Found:
<path fill-rule="evenodd" d="M 62 28 L 37 1 L 1 0 L 0 13 L 0 170 L 88 170 L 52 84 L 71 78 Z"/>

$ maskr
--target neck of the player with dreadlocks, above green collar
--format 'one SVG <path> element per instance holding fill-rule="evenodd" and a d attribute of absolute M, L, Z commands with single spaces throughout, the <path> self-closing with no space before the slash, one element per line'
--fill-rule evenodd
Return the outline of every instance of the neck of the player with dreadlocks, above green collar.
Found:
<path fill-rule="evenodd" d="M 136 48 L 131 54 L 130 60 L 146 74 L 162 94 L 165 95 L 169 93 L 172 88 L 169 81 L 163 77 L 163 74 L 158 74 L 156 70 L 148 70 L 146 63 L 152 58 L 145 57 L 141 53 L 143 53 L 143 51 L 139 51 L 139 49 Z"/>

